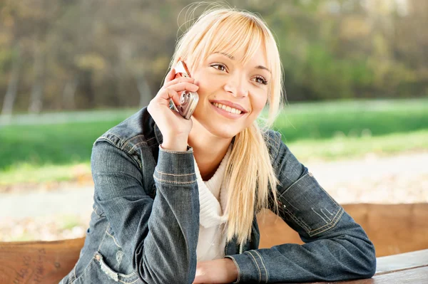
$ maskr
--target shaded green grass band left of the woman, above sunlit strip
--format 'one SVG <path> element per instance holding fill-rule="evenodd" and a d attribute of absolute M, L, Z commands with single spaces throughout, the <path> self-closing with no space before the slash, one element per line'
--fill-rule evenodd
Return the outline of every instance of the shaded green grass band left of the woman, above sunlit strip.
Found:
<path fill-rule="evenodd" d="M 91 158 L 92 144 L 121 120 L 60 125 L 12 125 L 0 129 L 0 171 L 21 164 L 77 164 Z"/>

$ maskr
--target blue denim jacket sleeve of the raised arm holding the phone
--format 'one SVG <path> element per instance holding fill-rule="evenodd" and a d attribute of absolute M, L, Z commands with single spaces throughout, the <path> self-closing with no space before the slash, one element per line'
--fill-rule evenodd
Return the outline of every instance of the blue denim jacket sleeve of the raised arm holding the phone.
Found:
<path fill-rule="evenodd" d="M 154 199 L 143 189 L 138 162 L 110 142 L 94 143 L 91 167 L 94 198 L 143 283 L 192 283 L 199 229 L 193 150 L 160 147 Z"/>

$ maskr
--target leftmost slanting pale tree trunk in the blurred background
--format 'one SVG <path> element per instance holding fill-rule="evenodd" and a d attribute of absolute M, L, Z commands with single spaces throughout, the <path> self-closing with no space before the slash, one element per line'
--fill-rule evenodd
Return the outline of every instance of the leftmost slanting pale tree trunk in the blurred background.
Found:
<path fill-rule="evenodd" d="M 0 120 L 1 122 L 9 122 L 11 119 L 12 111 L 14 110 L 14 103 L 16 99 L 16 92 L 18 90 L 19 71 L 21 70 L 21 48 L 16 45 L 16 55 L 14 56 L 14 63 L 12 64 L 11 78 L 7 87 L 6 95 L 4 97 L 3 107 L 1 108 Z"/>

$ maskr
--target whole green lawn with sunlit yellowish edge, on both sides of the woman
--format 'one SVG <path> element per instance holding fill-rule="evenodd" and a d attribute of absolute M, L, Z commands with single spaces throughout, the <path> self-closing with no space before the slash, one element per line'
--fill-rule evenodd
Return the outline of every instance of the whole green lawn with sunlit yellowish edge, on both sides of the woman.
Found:
<path fill-rule="evenodd" d="M 68 180 L 76 164 L 89 172 L 96 138 L 136 111 L 13 117 L 11 125 L 0 126 L 0 185 Z M 428 98 L 291 103 L 273 129 L 299 159 L 428 149 Z"/>

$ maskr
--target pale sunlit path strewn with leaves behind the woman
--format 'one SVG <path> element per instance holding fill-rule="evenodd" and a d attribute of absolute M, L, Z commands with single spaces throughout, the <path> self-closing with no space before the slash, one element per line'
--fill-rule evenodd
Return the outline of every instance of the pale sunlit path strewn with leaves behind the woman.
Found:
<path fill-rule="evenodd" d="M 305 166 L 340 204 L 428 202 L 428 152 Z M 91 184 L 0 194 L 0 241 L 84 236 L 92 200 Z"/>

